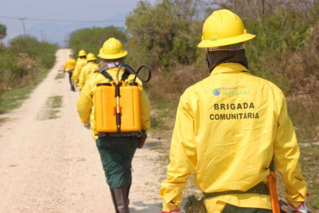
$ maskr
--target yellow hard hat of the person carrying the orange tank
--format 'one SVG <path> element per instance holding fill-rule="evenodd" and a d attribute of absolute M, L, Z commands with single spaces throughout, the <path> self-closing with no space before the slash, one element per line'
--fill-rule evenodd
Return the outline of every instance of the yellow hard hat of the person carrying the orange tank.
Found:
<path fill-rule="evenodd" d="M 123 50 L 121 41 L 116 38 L 109 38 L 104 42 L 102 52 L 99 54 L 99 57 L 104 59 L 117 59 L 123 58 L 127 54 L 128 51 Z"/>

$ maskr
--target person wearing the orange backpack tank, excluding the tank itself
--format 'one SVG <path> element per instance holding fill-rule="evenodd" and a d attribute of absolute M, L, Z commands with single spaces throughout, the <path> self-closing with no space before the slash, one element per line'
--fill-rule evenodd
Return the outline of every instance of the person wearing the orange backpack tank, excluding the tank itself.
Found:
<path fill-rule="evenodd" d="M 103 52 L 99 54 L 102 65 L 99 71 L 95 71 L 85 83 L 77 101 L 77 110 L 84 126 L 91 127 L 91 132 L 100 153 L 102 166 L 105 172 L 107 184 L 111 190 L 111 196 L 116 213 L 129 213 L 129 191 L 132 184 L 132 159 L 139 144 L 136 137 L 98 137 L 95 130 L 94 93 L 99 83 L 110 83 L 101 72 L 106 71 L 113 79 L 116 77 L 119 64 L 124 63 L 124 57 L 128 54 L 123 50 L 122 43 L 110 38 L 103 44 Z M 104 73 L 105 74 L 105 73 Z M 121 69 L 119 77 L 126 79 L 126 83 L 134 81 L 135 75 L 127 74 Z M 141 123 L 142 132 L 150 129 L 150 103 L 144 92 L 142 82 L 137 79 L 141 91 Z"/>

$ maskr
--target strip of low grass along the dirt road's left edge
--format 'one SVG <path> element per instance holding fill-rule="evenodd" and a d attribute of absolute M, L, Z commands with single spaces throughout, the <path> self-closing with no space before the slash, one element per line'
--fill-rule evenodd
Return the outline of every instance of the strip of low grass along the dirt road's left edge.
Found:
<path fill-rule="evenodd" d="M 19 107 L 23 100 L 29 97 L 29 94 L 33 89 L 39 85 L 40 82 L 47 76 L 50 69 L 44 69 L 36 80 L 30 82 L 30 84 L 23 88 L 14 88 L 5 91 L 0 96 L 0 114 L 4 114 L 12 109 Z"/>

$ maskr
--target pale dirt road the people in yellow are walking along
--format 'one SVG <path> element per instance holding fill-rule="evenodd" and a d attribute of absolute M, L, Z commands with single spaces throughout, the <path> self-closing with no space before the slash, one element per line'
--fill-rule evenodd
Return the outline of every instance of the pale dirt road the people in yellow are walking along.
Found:
<path fill-rule="evenodd" d="M 30 98 L 1 116 L 10 118 L 0 124 L 1 213 L 114 212 L 97 148 L 76 112 L 78 94 L 67 75 L 55 79 L 69 52 L 58 50 Z M 136 153 L 132 213 L 160 212 L 158 157 L 148 148 Z"/>

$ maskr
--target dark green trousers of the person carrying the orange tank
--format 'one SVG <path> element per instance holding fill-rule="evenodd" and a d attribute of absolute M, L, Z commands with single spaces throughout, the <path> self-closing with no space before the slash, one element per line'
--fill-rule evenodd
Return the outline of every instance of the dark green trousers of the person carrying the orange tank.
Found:
<path fill-rule="evenodd" d="M 133 137 L 104 137 L 96 140 L 106 182 L 111 189 L 131 186 L 132 160 L 139 139 Z"/>

